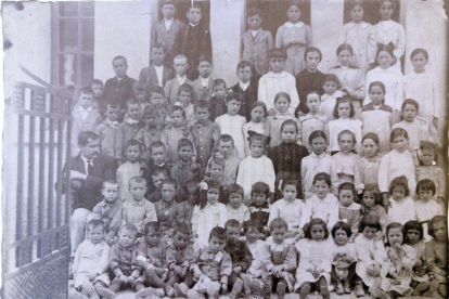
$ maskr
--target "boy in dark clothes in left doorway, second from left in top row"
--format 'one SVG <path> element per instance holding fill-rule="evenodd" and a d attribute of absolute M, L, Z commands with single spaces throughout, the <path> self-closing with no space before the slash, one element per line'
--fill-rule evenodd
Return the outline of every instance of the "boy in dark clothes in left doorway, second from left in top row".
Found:
<path fill-rule="evenodd" d="M 197 65 L 201 55 L 211 57 L 210 30 L 207 25 L 201 22 L 203 12 L 197 2 L 192 2 L 187 17 L 189 25 L 178 32 L 172 52 L 174 54 L 183 54 L 193 66 Z M 198 72 L 194 67 L 189 68 L 188 77 L 193 81 L 198 77 Z"/>

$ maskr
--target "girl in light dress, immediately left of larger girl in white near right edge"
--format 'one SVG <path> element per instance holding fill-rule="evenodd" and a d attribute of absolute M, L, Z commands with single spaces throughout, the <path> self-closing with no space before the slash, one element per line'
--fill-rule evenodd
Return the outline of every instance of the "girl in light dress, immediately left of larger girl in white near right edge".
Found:
<path fill-rule="evenodd" d="M 372 184 L 377 186 L 379 166 L 381 156 L 377 153 L 379 136 L 368 133 L 362 139 L 362 156 L 356 160 L 355 184 L 357 193 L 361 194 L 364 186 Z"/>

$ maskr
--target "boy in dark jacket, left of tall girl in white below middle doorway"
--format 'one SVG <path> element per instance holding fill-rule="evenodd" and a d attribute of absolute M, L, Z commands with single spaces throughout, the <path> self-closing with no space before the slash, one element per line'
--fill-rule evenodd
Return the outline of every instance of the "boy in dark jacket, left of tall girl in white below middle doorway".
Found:
<path fill-rule="evenodd" d="M 239 114 L 246 117 L 246 120 L 249 121 L 251 105 L 257 101 L 257 79 L 253 78 L 252 66 L 247 61 L 241 61 L 238 64 L 236 74 L 239 77 L 239 82 L 230 90 L 243 94 L 243 105 L 240 107 Z"/>

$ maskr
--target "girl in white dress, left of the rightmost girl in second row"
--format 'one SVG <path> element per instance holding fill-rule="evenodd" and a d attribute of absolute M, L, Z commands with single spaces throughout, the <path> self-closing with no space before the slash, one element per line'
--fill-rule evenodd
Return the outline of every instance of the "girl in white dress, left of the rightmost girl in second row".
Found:
<path fill-rule="evenodd" d="M 376 60 L 379 66 L 367 74 L 367 83 L 381 81 L 385 86 L 385 105 L 390 106 L 393 113 L 393 123 L 399 121 L 399 112 L 403 102 L 402 93 L 402 74 L 396 67 L 392 66 L 395 54 L 393 46 L 381 46 L 377 49 Z M 369 92 L 369 90 L 368 90 Z M 367 92 L 363 104 L 371 103 L 370 94 Z"/>

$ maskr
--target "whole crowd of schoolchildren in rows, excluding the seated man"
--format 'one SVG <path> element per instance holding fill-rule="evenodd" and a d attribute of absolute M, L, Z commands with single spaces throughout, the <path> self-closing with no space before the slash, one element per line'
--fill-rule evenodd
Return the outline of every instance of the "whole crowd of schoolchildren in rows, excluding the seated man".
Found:
<path fill-rule="evenodd" d="M 328 75 L 299 1 L 275 42 L 248 10 L 239 82 L 228 88 L 209 56 L 192 56 L 210 42 L 201 6 L 185 26 L 163 1 L 139 81 L 116 56 L 116 77 L 104 92 L 98 79 L 82 88 L 73 112 L 74 140 L 95 132 L 118 169 L 87 219 L 70 297 L 446 297 L 435 81 L 423 49 L 402 77 L 395 2 L 380 1 L 375 26 L 351 2 Z"/>

